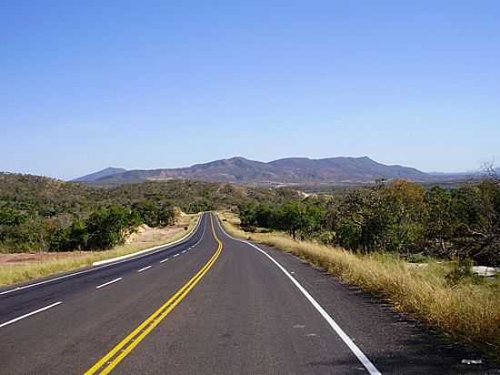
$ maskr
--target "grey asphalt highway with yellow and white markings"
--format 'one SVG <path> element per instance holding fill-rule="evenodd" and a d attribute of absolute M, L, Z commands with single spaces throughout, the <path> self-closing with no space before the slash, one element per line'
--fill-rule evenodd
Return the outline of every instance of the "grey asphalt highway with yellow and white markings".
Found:
<path fill-rule="evenodd" d="M 175 246 L 0 290 L 2 374 L 498 373 L 470 357 L 208 213 Z"/>

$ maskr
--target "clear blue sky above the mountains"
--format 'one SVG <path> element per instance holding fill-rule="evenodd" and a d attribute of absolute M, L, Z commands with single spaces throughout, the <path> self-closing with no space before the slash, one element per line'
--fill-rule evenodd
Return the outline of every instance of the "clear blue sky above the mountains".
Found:
<path fill-rule="evenodd" d="M 500 161 L 498 1 L 2 1 L 0 51 L 0 170 Z"/>

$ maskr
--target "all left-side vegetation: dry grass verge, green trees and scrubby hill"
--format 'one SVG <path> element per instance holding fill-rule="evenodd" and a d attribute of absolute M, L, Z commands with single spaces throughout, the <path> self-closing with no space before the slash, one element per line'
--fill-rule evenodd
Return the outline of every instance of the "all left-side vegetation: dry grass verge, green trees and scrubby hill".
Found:
<path fill-rule="evenodd" d="M 288 189 L 197 181 L 106 188 L 0 173 L 0 285 L 88 267 L 174 241 L 193 228 L 200 211 L 236 208 L 242 202 L 282 204 L 296 197 Z M 152 240 L 126 243 L 145 226 L 156 232 L 172 230 Z"/>

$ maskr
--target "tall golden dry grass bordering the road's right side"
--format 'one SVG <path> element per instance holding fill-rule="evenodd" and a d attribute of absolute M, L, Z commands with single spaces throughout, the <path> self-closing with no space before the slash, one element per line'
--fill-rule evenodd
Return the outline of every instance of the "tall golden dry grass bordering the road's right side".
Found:
<path fill-rule="evenodd" d="M 500 279 L 465 278 L 451 285 L 451 262 L 415 267 L 388 254 L 359 255 L 315 242 L 295 241 L 284 233 L 248 233 L 234 214 L 219 213 L 225 230 L 291 252 L 316 266 L 389 299 L 405 311 L 454 340 L 465 341 L 500 360 Z"/>

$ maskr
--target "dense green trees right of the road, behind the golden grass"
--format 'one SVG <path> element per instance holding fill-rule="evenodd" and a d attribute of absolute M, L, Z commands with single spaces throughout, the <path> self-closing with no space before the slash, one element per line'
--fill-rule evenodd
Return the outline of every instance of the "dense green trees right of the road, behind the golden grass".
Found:
<path fill-rule="evenodd" d="M 471 258 L 500 266 L 500 185 L 455 189 L 398 180 L 341 196 L 240 205 L 242 227 L 284 230 L 355 251 Z"/>

